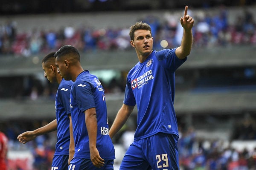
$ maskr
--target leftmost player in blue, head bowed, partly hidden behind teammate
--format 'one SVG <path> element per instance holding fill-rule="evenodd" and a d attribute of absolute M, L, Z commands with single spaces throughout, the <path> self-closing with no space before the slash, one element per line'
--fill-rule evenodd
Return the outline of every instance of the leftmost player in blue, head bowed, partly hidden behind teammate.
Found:
<path fill-rule="evenodd" d="M 68 168 L 68 164 L 75 152 L 69 103 L 70 89 L 73 82 L 64 80 L 63 77 L 57 73 L 54 54 L 55 52 L 52 52 L 44 57 L 42 60 L 42 68 L 44 70 L 44 77 L 46 77 L 49 82 L 57 82 L 59 84 L 55 97 L 56 119 L 36 130 L 21 133 L 17 139 L 20 143 L 25 144 L 39 135 L 57 130 L 57 143 L 51 170 L 64 170 Z"/>

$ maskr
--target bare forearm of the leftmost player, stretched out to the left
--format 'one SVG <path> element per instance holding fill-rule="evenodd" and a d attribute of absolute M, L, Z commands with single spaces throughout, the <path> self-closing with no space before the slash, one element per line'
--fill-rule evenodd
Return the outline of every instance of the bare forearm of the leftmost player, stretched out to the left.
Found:
<path fill-rule="evenodd" d="M 25 144 L 26 142 L 29 142 L 33 139 L 35 139 L 35 137 L 39 136 L 39 135 L 43 135 L 45 133 L 49 133 L 52 131 L 57 130 L 57 119 L 53 120 L 52 122 L 48 123 L 47 125 L 40 127 L 36 130 L 33 131 L 26 131 L 24 133 L 21 133 L 17 139 L 19 140 L 20 143 Z"/>

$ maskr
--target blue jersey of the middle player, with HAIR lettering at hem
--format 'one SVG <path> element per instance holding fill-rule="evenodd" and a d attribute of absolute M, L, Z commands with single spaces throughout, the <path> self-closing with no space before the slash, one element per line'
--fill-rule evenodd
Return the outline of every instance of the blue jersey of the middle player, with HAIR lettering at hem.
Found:
<path fill-rule="evenodd" d="M 96 147 L 102 159 L 115 159 L 114 146 L 108 135 L 104 89 L 99 79 L 87 70 L 79 74 L 72 85 L 70 107 L 75 142 L 74 158 L 90 159 L 89 136 L 85 124 L 84 111 L 96 108 L 98 127 Z"/>

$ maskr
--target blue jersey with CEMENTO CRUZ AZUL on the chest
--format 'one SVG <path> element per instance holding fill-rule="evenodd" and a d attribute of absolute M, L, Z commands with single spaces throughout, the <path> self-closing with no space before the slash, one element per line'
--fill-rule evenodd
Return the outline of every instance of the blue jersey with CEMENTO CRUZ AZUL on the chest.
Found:
<path fill-rule="evenodd" d="M 156 133 L 178 136 L 174 110 L 175 70 L 186 61 L 177 58 L 174 49 L 152 51 L 127 75 L 125 105 L 137 104 L 137 130 L 134 141 Z"/>

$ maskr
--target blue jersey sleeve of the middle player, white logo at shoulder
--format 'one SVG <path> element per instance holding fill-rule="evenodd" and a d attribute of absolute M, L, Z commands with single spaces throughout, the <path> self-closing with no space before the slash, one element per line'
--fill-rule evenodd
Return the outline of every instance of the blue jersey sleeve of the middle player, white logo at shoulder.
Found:
<path fill-rule="evenodd" d="M 76 103 L 81 112 L 90 108 L 95 108 L 95 100 L 93 95 L 93 85 L 89 82 L 83 82 L 82 85 L 76 85 Z"/>

